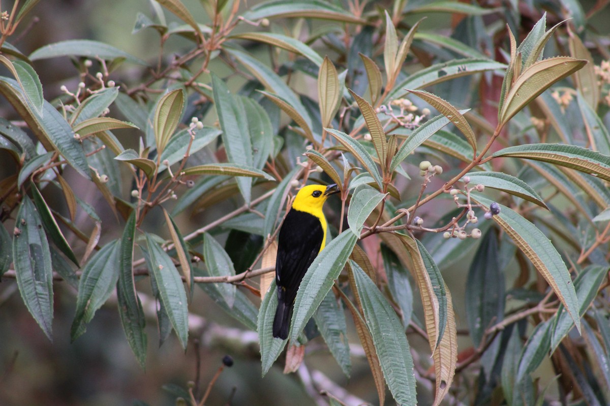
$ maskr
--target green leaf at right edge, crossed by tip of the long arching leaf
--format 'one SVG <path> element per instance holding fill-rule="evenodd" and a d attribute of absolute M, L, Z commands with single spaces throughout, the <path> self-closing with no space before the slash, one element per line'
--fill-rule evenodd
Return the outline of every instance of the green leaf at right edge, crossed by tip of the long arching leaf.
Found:
<path fill-rule="evenodd" d="M 576 276 L 574 279 L 574 287 L 576 289 L 576 297 L 578 298 L 578 310 L 580 317 L 584 316 L 587 309 L 600 288 L 601 282 L 608 275 L 608 267 L 600 265 L 589 265 Z M 561 340 L 570 332 L 573 326 L 572 318 L 565 311 L 563 305 L 559 306 L 556 315 L 553 316 L 550 323 L 551 327 L 551 351 L 555 351 Z"/>

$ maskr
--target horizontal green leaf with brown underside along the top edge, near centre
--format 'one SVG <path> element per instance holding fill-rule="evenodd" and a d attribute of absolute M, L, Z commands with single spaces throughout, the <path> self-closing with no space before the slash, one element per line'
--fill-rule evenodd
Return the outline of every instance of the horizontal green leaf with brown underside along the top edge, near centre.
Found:
<path fill-rule="evenodd" d="M 262 18 L 319 18 L 345 23 L 365 24 L 365 20 L 346 12 L 345 9 L 322 0 L 270 0 L 255 5 L 243 18 L 256 21 Z"/>

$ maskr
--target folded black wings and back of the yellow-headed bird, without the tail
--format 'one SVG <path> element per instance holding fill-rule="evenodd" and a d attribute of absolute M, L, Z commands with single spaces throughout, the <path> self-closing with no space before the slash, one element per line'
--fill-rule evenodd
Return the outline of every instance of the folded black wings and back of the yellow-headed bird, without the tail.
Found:
<path fill-rule="evenodd" d="M 279 233 L 276 284 L 286 290 L 285 303 L 292 303 L 301 280 L 320 252 L 324 231 L 320 220 L 309 213 L 290 210 Z"/>

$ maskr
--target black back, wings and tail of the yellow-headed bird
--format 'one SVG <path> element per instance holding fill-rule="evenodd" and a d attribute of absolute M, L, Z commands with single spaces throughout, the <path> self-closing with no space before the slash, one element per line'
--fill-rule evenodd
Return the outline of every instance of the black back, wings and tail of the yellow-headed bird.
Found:
<path fill-rule="evenodd" d="M 279 231 L 275 282 L 278 309 L 273 320 L 273 337 L 285 339 L 301 280 L 320 252 L 324 230 L 313 214 L 290 209 Z"/>

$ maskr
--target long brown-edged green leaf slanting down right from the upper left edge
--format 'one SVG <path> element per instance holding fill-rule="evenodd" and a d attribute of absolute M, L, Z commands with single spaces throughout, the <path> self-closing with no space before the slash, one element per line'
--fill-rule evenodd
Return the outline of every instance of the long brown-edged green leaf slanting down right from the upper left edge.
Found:
<path fill-rule="evenodd" d="M 87 158 L 82 150 L 81 143 L 74 138 L 72 128 L 62 114 L 52 107 L 51 103 L 45 101 L 42 114 L 36 113 L 29 107 L 18 83 L 7 77 L 0 77 L 0 93 L 9 100 L 15 110 L 23 117 L 30 130 L 45 146 L 46 150 L 59 151 L 77 172 L 83 177 L 91 179 Z"/>

